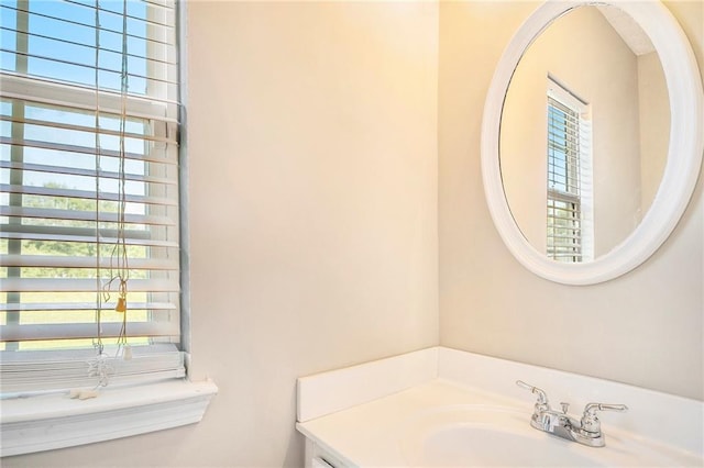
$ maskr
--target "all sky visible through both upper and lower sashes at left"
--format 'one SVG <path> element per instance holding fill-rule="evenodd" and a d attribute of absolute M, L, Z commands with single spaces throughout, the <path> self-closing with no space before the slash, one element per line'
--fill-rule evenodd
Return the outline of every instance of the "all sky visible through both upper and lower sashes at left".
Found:
<path fill-rule="evenodd" d="M 96 2 L 86 0 L 31 0 L 19 2 L 16 0 L 3 0 L 0 7 L 1 36 L 0 64 L 3 71 L 38 77 L 61 82 L 96 87 L 99 89 L 120 91 L 122 69 L 122 41 L 123 29 L 122 11 L 125 3 L 121 0 L 100 1 L 98 11 L 99 33 L 98 54 L 96 56 Z M 128 49 L 128 92 L 130 94 L 145 94 L 147 92 L 147 41 L 146 3 L 136 0 L 127 2 L 127 49 Z M 26 9 L 29 13 L 18 12 Z M 28 33 L 16 32 L 18 18 L 26 14 Z M 22 40 L 26 38 L 25 54 L 20 51 Z M 19 48 L 18 48 L 19 47 Z M 14 53 L 19 51 L 20 53 Z M 18 59 L 18 57 L 20 57 Z M 19 65 L 26 57 L 26 70 Z M 98 76 L 96 78 L 96 59 L 98 60 Z M 79 111 L 46 104 L 23 103 L 15 100 L 3 99 L 0 102 L 0 113 L 10 119 L 14 105 L 24 107 L 25 120 L 36 121 L 37 124 L 26 123 L 23 126 L 23 140 L 35 142 L 51 142 L 58 145 L 72 145 L 82 148 L 95 148 L 95 112 Z M 12 122 L 0 122 L 2 137 L 10 138 Z M 69 124 L 85 127 L 85 131 L 75 129 L 59 129 L 52 124 Z M 16 124 L 15 124 L 16 125 Z M 120 116 L 101 113 L 99 126 L 102 131 L 118 132 Z M 141 135 L 148 132 L 148 123 L 140 119 L 128 119 L 125 132 Z M 105 152 L 118 152 L 120 138 L 114 134 L 101 134 L 99 146 Z M 145 153 L 145 142 L 139 137 L 127 137 L 124 151 L 135 155 Z M 10 160 L 10 145 L 1 147 L 2 160 Z M 24 164 L 38 164 L 65 166 L 80 169 L 95 169 L 95 155 L 89 153 L 73 153 L 59 149 L 47 149 L 32 146 L 23 148 Z M 119 158 L 101 156 L 100 168 L 106 172 L 117 172 Z M 125 171 L 131 175 L 145 174 L 145 163 L 134 159 L 125 160 Z M 2 170 L 2 183 L 9 183 L 9 170 Z M 44 171 L 25 170 L 23 185 L 45 187 L 58 185 L 70 189 L 95 190 L 96 182 L 91 176 L 77 176 L 65 174 L 52 174 Z M 116 193 L 118 180 L 114 178 L 101 178 L 101 191 Z M 128 181 L 125 191 L 131 194 L 144 194 L 144 183 Z M 2 194 L 3 204 L 8 203 L 8 194 Z M 128 207 L 131 212 L 143 212 L 143 207 Z"/>

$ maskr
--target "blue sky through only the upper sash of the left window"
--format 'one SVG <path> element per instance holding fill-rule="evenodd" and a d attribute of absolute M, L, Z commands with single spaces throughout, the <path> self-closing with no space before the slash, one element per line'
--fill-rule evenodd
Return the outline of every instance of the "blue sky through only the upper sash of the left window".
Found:
<path fill-rule="evenodd" d="M 16 69 L 18 9 L 29 5 L 28 70 L 31 76 L 51 78 L 89 87 L 96 85 L 96 2 L 85 0 L 32 0 L 29 3 L 3 0 L 0 23 L 2 25 L 1 68 Z M 101 89 L 120 90 L 122 69 L 122 10 L 119 0 L 100 1 L 100 34 L 98 54 L 98 86 Z M 146 3 L 136 0 L 127 2 L 127 51 L 129 92 L 146 93 L 147 31 Z M 143 20 L 140 20 L 143 19 Z M 22 35 L 23 33 L 19 33 Z"/>

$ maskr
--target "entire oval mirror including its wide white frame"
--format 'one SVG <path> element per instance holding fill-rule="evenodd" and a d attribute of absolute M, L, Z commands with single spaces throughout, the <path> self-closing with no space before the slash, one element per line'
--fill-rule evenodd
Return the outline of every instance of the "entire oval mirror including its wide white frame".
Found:
<path fill-rule="evenodd" d="M 509 250 L 568 285 L 645 261 L 694 190 L 703 101 L 690 44 L 660 2 L 538 8 L 484 111 L 484 188 Z"/>

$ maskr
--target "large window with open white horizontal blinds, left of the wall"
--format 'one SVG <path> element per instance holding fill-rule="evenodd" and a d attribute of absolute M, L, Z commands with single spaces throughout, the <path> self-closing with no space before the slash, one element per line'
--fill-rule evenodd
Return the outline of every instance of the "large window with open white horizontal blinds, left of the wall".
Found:
<path fill-rule="evenodd" d="M 0 3 L 4 367 L 26 360 L 10 352 L 91 348 L 98 308 L 106 344 L 119 335 L 119 285 L 105 285 L 120 233 L 128 343 L 179 342 L 176 16 L 173 0 Z"/>

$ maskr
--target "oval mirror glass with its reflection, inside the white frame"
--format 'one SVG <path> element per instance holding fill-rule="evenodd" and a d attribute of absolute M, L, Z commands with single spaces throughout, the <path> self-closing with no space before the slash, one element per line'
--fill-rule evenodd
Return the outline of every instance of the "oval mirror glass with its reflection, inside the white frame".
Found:
<path fill-rule="evenodd" d="M 616 7 L 580 7 L 522 55 L 505 97 L 504 192 L 526 239 L 587 263 L 638 226 L 667 164 L 670 102 L 648 35 Z"/>

